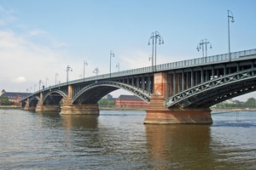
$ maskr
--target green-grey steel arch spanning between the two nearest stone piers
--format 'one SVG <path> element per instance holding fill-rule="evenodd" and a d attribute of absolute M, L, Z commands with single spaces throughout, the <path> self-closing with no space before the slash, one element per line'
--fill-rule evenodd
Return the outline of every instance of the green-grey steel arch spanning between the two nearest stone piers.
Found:
<path fill-rule="evenodd" d="M 119 88 L 125 89 L 131 92 L 131 94 L 137 95 L 140 99 L 148 102 L 150 101 L 150 96 L 147 91 L 140 88 L 135 88 L 131 85 L 122 82 L 110 82 L 102 81 L 92 83 L 85 88 L 81 89 L 78 94 L 73 97 L 73 104 L 96 104 L 96 102 L 105 95 L 117 90 Z"/>

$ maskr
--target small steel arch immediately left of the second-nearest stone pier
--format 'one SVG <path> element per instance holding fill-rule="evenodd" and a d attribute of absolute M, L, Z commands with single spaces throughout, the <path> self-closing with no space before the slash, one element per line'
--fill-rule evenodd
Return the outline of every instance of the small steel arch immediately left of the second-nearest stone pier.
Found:
<path fill-rule="evenodd" d="M 52 90 L 44 96 L 43 105 L 59 105 L 61 99 L 67 98 L 67 94 L 61 90 Z"/>

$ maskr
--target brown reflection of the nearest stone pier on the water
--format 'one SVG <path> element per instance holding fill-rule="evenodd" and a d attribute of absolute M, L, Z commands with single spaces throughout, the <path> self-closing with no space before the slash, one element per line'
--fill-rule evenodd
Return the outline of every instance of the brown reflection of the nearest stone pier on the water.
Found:
<path fill-rule="evenodd" d="M 209 126 L 146 125 L 146 136 L 155 169 L 211 169 Z"/>

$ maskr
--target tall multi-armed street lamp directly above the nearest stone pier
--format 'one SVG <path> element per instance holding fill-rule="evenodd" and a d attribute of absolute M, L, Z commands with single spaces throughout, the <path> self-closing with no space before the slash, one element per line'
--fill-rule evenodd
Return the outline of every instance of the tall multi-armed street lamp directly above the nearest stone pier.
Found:
<path fill-rule="evenodd" d="M 150 45 L 150 39 L 152 39 L 152 71 L 154 71 L 153 67 L 156 66 L 156 43 L 158 40 L 159 44 L 163 44 L 164 39 L 160 36 L 160 33 L 158 31 L 154 31 L 151 33 L 151 36 L 148 40 L 148 45 Z"/>

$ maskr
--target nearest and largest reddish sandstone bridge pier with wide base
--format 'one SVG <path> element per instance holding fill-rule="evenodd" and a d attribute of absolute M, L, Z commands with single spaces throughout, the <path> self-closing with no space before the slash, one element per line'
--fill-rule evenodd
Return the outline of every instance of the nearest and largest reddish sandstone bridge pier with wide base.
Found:
<path fill-rule="evenodd" d="M 166 108 L 166 74 L 154 74 L 154 94 L 146 109 L 147 115 L 144 123 L 152 124 L 210 124 L 212 123 L 211 110 L 202 109 L 168 109 Z"/>

